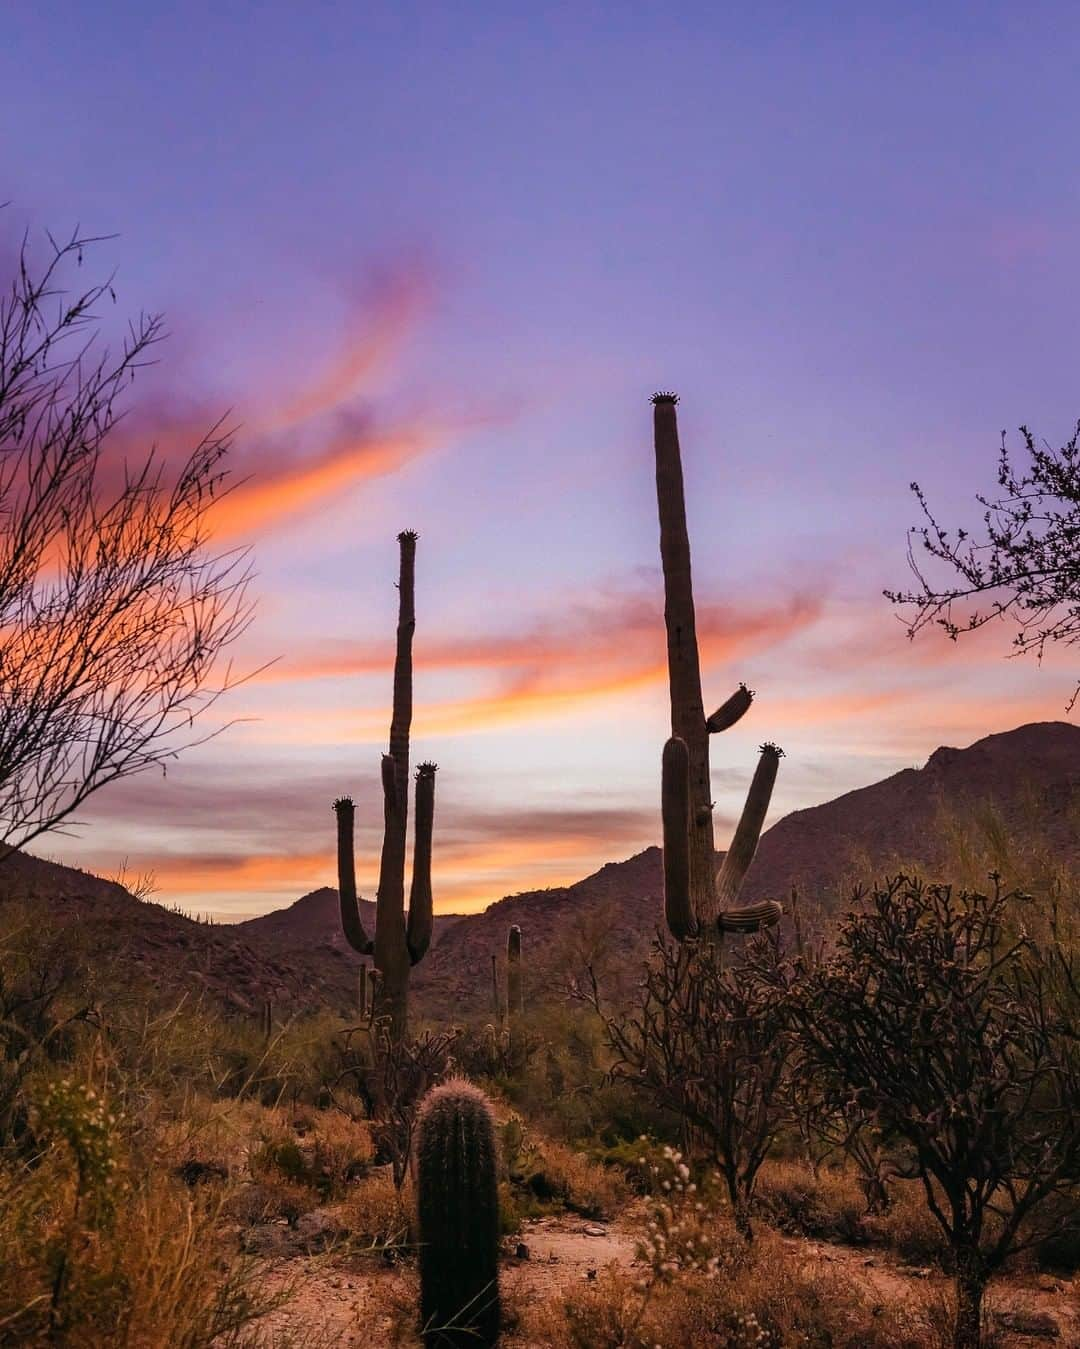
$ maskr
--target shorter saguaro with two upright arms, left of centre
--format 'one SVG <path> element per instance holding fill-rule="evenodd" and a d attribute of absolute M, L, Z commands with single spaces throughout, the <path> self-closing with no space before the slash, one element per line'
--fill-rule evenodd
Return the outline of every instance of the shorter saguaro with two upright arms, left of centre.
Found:
<path fill-rule="evenodd" d="M 355 951 L 375 956 L 375 1016 L 390 1018 L 391 1039 L 404 1037 L 409 1014 L 409 971 L 431 944 L 431 828 L 436 809 L 436 765 L 417 768 L 417 819 L 413 839 L 413 884 L 404 911 L 404 853 L 409 824 L 409 731 L 413 722 L 413 633 L 415 615 L 417 536 L 398 534 L 398 645 L 394 658 L 394 711 L 390 753 L 383 755 L 383 851 L 375 900 L 375 939 L 368 938 L 356 896 L 353 853 L 355 805 L 334 801 L 337 815 L 337 889 L 341 927 Z"/>

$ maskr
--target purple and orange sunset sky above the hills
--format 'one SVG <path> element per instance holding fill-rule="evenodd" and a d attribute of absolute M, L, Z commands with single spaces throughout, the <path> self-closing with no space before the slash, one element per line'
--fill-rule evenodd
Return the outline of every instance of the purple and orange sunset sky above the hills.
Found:
<path fill-rule="evenodd" d="M 658 842 L 669 728 L 651 409 L 681 395 L 717 844 L 1030 720 L 1071 670 L 914 643 L 917 479 L 978 522 L 1002 429 L 1076 398 L 1080 11 L 1067 4 L 42 3 L 0 50 L 0 262 L 115 235 L 164 312 L 128 434 L 228 413 L 259 670 L 227 730 L 38 851 L 224 919 L 373 893 L 396 542 L 442 912 Z M 139 441 L 142 444 L 142 441 Z"/>

